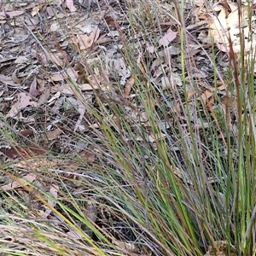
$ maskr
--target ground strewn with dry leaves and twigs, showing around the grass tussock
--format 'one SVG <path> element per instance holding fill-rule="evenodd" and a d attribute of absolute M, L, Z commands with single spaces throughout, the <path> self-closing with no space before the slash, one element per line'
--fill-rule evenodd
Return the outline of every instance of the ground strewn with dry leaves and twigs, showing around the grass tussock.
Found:
<path fill-rule="evenodd" d="M 36 2 L 1 3 L 3 11 L 0 13 L 0 157 L 21 177 L 26 177 L 31 183 L 58 197 L 60 183 L 50 173 L 48 180 L 45 176 L 41 178 L 40 173 L 44 171 L 40 168 L 46 167 L 49 172 L 58 170 L 65 186 L 71 188 L 74 195 L 78 195 L 79 184 L 71 182 L 79 180 L 73 174 L 74 171 L 79 172 L 79 164 L 75 158 L 88 162 L 88 165 L 97 161 L 99 166 L 108 164 L 108 159 L 101 158 L 101 152 L 108 150 L 104 148 L 106 146 L 101 146 L 101 140 L 106 138 L 98 137 L 94 132 L 100 124 L 81 102 L 97 108 L 96 97 L 100 97 L 108 108 L 112 108 L 112 104 L 121 104 L 127 109 L 128 119 L 136 122 L 139 117 L 147 125 L 147 116 L 143 110 L 139 114 L 135 111 L 137 95 L 132 86 L 136 78 L 132 77 L 127 56 L 124 58 L 125 46 L 135 51 L 137 66 L 141 72 L 150 73 L 152 83 L 163 91 L 172 88 L 183 91 L 181 62 L 184 58 L 186 80 L 192 79 L 200 84 L 200 90 L 188 90 L 189 97 L 201 96 L 206 102 L 212 113 L 212 120 L 219 125 L 221 139 L 221 124 L 212 111 L 213 91 L 216 90 L 212 60 L 215 59 L 218 64 L 218 79 L 215 79 L 215 83 L 218 84 L 218 96 L 224 103 L 219 103 L 218 107 L 224 108 L 225 104 L 230 104 L 232 97 L 232 91 L 227 89 L 223 79 L 226 68 L 230 65 L 226 54 L 230 49 L 226 49 L 223 44 L 225 42 L 221 41 L 224 36 L 216 33 L 216 20 L 212 18 L 209 21 L 212 6 L 203 6 L 200 1 L 193 5 L 187 3 L 183 13 L 183 28 L 188 34 L 189 42 L 186 44 L 189 48 L 182 55 L 179 16 L 173 3 L 142 2 L 132 7 L 132 1 L 77 1 L 74 4 L 73 1 L 52 1 L 51 4 Z M 131 7 L 133 11 L 129 13 L 128 9 Z M 236 20 L 235 3 L 230 3 L 228 10 L 223 6 L 218 8 L 219 19 L 220 14 L 228 12 L 229 15 L 224 15 L 224 19 L 230 17 L 229 21 Z M 153 20 L 147 17 L 147 12 L 152 13 Z M 129 15 L 133 15 L 135 21 L 132 26 L 128 22 Z M 231 15 L 236 17 L 232 18 Z M 157 23 L 160 29 L 155 31 L 150 28 L 151 23 Z M 209 27 L 215 32 L 213 38 L 216 56 L 211 53 Z M 235 37 L 236 26 L 231 33 Z M 237 37 L 233 40 L 238 49 L 240 43 L 237 42 Z M 167 56 L 172 58 L 168 60 Z M 168 97 L 177 113 L 180 112 L 175 96 Z M 233 119 L 236 119 L 236 111 L 234 112 Z M 111 118 L 114 119 L 114 115 Z M 200 125 L 197 124 L 197 119 L 193 122 Z M 231 128 L 236 132 L 236 128 Z M 81 140 L 80 136 L 87 139 Z M 92 141 L 97 143 L 98 148 Z M 150 137 L 150 133 L 148 142 L 154 143 L 154 137 Z M 34 156 L 37 156 L 36 160 Z M 90 172 L 86 173 L 92 177 Z M 32 191 L 28 195 L 20 189 L 19 181 L 14 183 L 6 173 L 1 175 L 2 192 L 9 196 L 19 194 L 25 201 L 30 201 L 32 214 L 57 222 L 52 209 L 42 207 L 38 202 L 32 203 Z M 3 211 L 15 214 L 14 209 L 7 207 L 5 201 L 2 204 Z M 55 207 L 52 201 L 48 203 Z M 118 216 L 106 216 L 111 213 L 103 208 L 96 209 L 94 204 L 87 205 L 84 211 L 87 211 L 86 214 L 90 215 L 92 221 L 97 220 L 101 228 L 114 227 L 116 243 L 121 241 L 120 236 L 125 241 L 132 240 L 132 234 L 125 226 L 122 227 Z M 61 227 L 61 223 L 57 225 L 67 236 L 75 239 L 75 231 Z M 124 246 L 119 244 L 119 247 Z M 131 244 L 126 244 L 128 246 Z M 144 249 L 141 253 L 145 253 L 145 248 L 140 249 Z M 77 250 L 79 251 L 79 245 Z M 138 248 L 131 247 L 130 251 L 138 253 L 137 250 Z"/>

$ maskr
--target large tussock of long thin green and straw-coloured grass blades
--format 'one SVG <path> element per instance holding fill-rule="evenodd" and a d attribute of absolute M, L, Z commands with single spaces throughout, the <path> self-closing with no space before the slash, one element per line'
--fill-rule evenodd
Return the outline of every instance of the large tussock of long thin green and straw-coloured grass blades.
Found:
<path fill-rule="evenodd" d="M 97 89 L 85 95 L 67 79 L 77 102 L 70 107 L 66 98 L 59 113 L 46 105 L 33 141 L 16 136 L 20 120 L 1 115 L 1 136 L 12 147 L 50 148 L 1 161 L 2 255 L 254 255 L 253 63 L 242 53 L 237 62 L 230 44 L 230 65 L 220 70 L 212 42 L 199 48 L 212 65 L 203 77 L 186 2 L 127 2 L 114 27 L 131 88 L 97 49 L 97 58 L 79 56 L 86 82 L 100 74 Z M 178 33 L 175 55 L 158 46 L 166 20 Z M 53 50 L 55 41 L 34 36 Z M 167 88 L 155 73 L 168 78 Z M 78 118 L 84 131 L 73 129 Z M 49 124 L 60 127 L 59 140 L 44 137 Z"/>

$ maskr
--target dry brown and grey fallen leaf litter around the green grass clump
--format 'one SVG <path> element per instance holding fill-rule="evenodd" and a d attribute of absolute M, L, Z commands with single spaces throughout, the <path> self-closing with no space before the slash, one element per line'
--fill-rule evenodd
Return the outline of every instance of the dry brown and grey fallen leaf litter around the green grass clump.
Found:
<path fill-rule="evenodd" d="M 51 207 L 56 207 L 56 201 L 59 198 L 67 201 L 67 196 L 63 194 L 61 185 L 55 179 L 49 178 L 46 182 L 47 178 L 43 174 L 45 167 L 49 172 L 58 173 L 64 183 L 67 182 L 67 186 L 75 188 L 73 194 L 80 193 L 82 188 L 79 188 L 79 179 L 84 178 L 84 175 L 96 179 L 90 172 L 84 174 L 75 160 L 78 157 L 85 162 L 95 163 L 102 157 L 101 151 L 105 150 L 105 148 L 102 149 L 103 146 L 102 148 L 99 146 L 86 151 L 84 148 L 90 147 L 90 144 L 81 143 L 77 137 L 73 136 L 73 132 L 81 134 L 85 132 L 88 137 L 95 137 L 93 129 L 101 127 L 99 121 L 90 116 L 84 102 L 90 106 L 96 106 L 93 97 L 99 96 L 106 106 L 123 105 L 127 118 L 131 119 L 131 126 L 143 120 L 142 124 L 148 127 L 149 143 L 154 144 L 166 137 L 162 132 L 158 137 L 151 134 L 144 109 L 135 111 L 137 108 L 134 107 L 133 99 L 137 96 L 134 90 L 136 78 L 132 77 L 131 67 L 124 56 L 119 54 L 120 49 L 123 48 L 120 31 L 125 34 L 127 29 L 127 25 L 120 22 L 124 15 L 122 8 L 119 4 L 112 3 L 113 6 L 109 9 L 104 1 L 80 2 L 83 1 L 79 1 L 79 4 L 70 0 L 52 1 L 50 5 L 44 1 L 37 3 L 17 1 L 15 5 L 2 3 L 4 11 L 0 13 L 3 25 L 0 55 L 0 109 L 2 112 L 0 119 L 8 120 L 9 124 L 15 122 L 13 129 L 16 133 L 26 131 L 29 127 L 33 127 L 33 130 L 38 133 L 37 136 L 32 135 L 30 138 L 32 142 L 23 137 L 19 145 L 9 144 L 9 148 L 1 148 L 1 157 L 10 162 L 9 168 L 19 173 L 19 180 L 24 184 L 24 188 L 35 182 L 40 183 L 39 187 L 47 188 L 51 195 L 51 199 L 48 199 Z M 199 87 L 191 88 L 189 96 L 193 98 L 199 95 L 198 100 L 205 102 L 212 113 L 215 89 L 211 86 L 213 73 L 210 43 L 213 38 L 216 47 L 227 55 L 230 52 L 227 42 L 227 31 L 229 31 L 232 41 L 235 42 L 234 49 L 238 53 L 240 49 L 240 41 L 237 37 L 238 27 L 233 22 L 238 20 L 238 11 L 234 3 L 230 3 L 229 10 L 223 5 L 218 5 L 215 7 L 215 9 L 218 8 L 217 17 L 212 16 L 216 10 L 206 9 L 202 1 L 197 1 L 195 4 L 195 15 L 190 15 L 190 21 L 188 19 L 188 24 L 185 25 L 189 32 L 189 47 L 184 53 L 185 58 L 194 60 L 195 66 L 188 68 L 185 80 L 195 79 L 198 82 Z M 84 15 L 84 7 L 86 15 Z M 163 10 L 166 8 L 171 9 L 171 5 L 163 3 Z M 115 16 L 110 11 L 113 9 Z M 187 11 L 189 9 L 191 6 L 187 3 Z M 137 11 L 141 11 L 139 7 Z M 205 16 L 209 11 L 212 12 L 210 19 Z M 242 17 L 245 20 L 244 26 L 247 26 L 245 9 Z M 144 45 L 140 32 L 137 31 L 137 36 L 132 38 L 137 40 L 138 45 L 137 64 L 143 69 L 144 61 L 148 61 L 155 88 L 161 88 L 162 91 L 176 88 L 181 91 L 184 81 L 181 75 L 181 48 L 177 19 L 170 20 L 170 16 L 166 16 L 165 12 L 162 13 L 161 18 L 162 32 L 157 35 L 157 44 L 148 37 L 143 51 L 139 47 L 140 44 Z M 66 26 L 67 30 L 63 30 L 62 26 Z M 44 38 L 41 44 L 38 44 L 38 40 L 35 39 L 38 32 Z M 252 47 L 249 46 L 249 42 L 245 43 L 246 49 Z M 77 50 L 71 49 L 70 45 L 75 46 Z M 228 62 L 227 58 L 226 63 Z M 221 68 L 218 69 L 219 74 L 223 72 Z M 122 86 L 122 93 L 119 93 L 115 87 L 118 83 Z M 221 84 L 223 87 L 219 86 L 218 92 L 225 96 L 224 81 Z M 171 102 L 172 100 L 175 102 L 172 96 L 168 97 Z M 182 111 L 178 104 L 173 111 L 180 112 L 182 118 Z M 108 118 L 118 122 L 114 113 Z M 213 119 L 217 120 L 216 117 Z M 42 123 L 44 128 L 40 125 Z M 200 125 L 196 117 L 195 125 Z M 13 132 L 10 127 L 8 129 L 7 132 Z M 221 130 L 220 127 L 219 129 Z M 2 137 L 3 141 L 7 140 L 4 134 Z M 140 140 L 143 138 L 137 137 L 137 141 Z M 53 157 L 49 146 L 54 148 L 60 157 Z M 62 154 L 64 156 L 61 156 Z M 106 163 L 106 160 L 102 161 Z M 177 169 L 177 177 L 187 176 L 181 172 Z M 1 184 L 0 188 L 3 192 L 13 190 L 19 193 L 22 187 L 20 183 L 9 182 L 9 178 L 5 176 L 2 179 L 4 184 Z M 72 180 L 75 182 L 71 182 Z M 30 195 L 30 197 L 30 200 L 34 201 L 34 196 Z M 89 201 L 88 198 L 87 201 Z M 102 213 L 102 215 L 99 214 L 104 212 L 103 204 L 100 201 L 94 201 L 95 203 L 88 203 L 84 209 L 84 215 L 89 218 L 90 224 L 95 227 L 99 222 L 110 224 L 113 219 L 118 223 L 114 216 L 111 220 Z M 32 203 L 32 207 L 38 211 L 39 217 L 54 219 L 58 230 L 62 230 L 66 238 L 72 238 L 76 242 L 82 239 L 70 226 L 66 224 L 64 227 L 63 220 L 55 216 L 47 206 Z M 98 219 L 100 215 L 101 221 Z M 82 223 L 79 224 L 82 225 Z M 129 227 L 125 229 L 129 230 Z M 85 229 L 84 232 L 91 238 L 94 237 L 91 230 Z M 119 234 L 118 237 L 121 236 L 125 234 Z M 113 245 L 119 247 L 120 251 L 128 251 L 130 254 L 139 253 L 138 247 L 132 243 L 132 236 L 125 237 L 125 241 L 113 239 Z M 79 250 L 79 246 L 77 249 Z M 140 255 L 142 253 L 141 251 Z"/>

